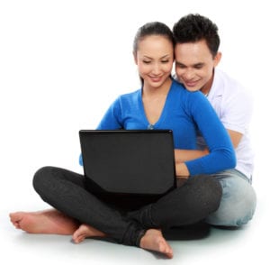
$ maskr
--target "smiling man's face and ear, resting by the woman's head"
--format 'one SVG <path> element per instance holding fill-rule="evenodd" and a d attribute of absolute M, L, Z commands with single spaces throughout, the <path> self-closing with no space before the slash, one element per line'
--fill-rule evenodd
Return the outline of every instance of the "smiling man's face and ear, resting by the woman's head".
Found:
<path fill-rule="evenodd" d="M 211 88 L 213 69 L 220 62 L 221 54 L 213 58 L 205 41 L 176 43 L 175 73 L 178 80 L 190 91 L 208 93 Z"/>

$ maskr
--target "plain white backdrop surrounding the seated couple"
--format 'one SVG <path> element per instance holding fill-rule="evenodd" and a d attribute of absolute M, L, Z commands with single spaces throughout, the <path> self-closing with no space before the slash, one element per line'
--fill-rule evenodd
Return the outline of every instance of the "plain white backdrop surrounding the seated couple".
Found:
<path fill-rule="evenodd" d="M 68 260 L 74 263 L 74 259 L 92 264 L 131 262 L 127 254 L 119 260 L 127 247 L 112 244 L 105 246 L 106 251 L 102 245 L 101 255 L 94 245 L 94 257 L 93 253 L 87 255 L 93 246 L 85 244 L 82 253 L 76 248 L 76 258 L 68 257 L 63 245 L 68 239 L 59 237 L 42 237 L 42 247 L 36 246 L 32 251 L 40 237 L 16 231 L 9 223 L 8 213 L 47 207 L 31 187 L 32 175 L 41 166 L 82 172 L 77 162 L 78 130 L 94 129 L 116 96 L 139 88 L 132 58 L 132 41 L 139 26 L 161 21 L 172 28 L 189 13 L 208 16 L 217 23 L 223 54 L 220 69 L 253 93 L 251 133 L 257 154 L 254 187 L 258 206 L 257 215 L 244 231 L 224 236 L 216 233 L 214 238 L 218 239 L 204 245 L 187 242 L 185 252 L 175 254 L 169 262 L 234 264 L 237 260 L 253 264 L 260 258 L 269 260 L 268 11 L 264 0 L 0 0 L 0 242 L 4 248 L 0 260 L 40 263 L 45 249 L 46 262 L 53 262 L 57 255 L 59 264 L 67 264 Z M 236 239 L 235 234 L 239 233 Z M 183 242 L 174 244 L 176 250 L 183 250 Z M 53 249 L 46 248 L 48 245 L 53 245 Z M 114 248 L 115 252 L 110 251 Z M 138 255 L 139 250 L 128 250 Z M 110 258 L 103 260 L 100 256 L 107 251 Z M 196 259 L 194 251 L 199 253 Z M 141 263 L 149 261 L 148 256 L 139 257 Z"/>

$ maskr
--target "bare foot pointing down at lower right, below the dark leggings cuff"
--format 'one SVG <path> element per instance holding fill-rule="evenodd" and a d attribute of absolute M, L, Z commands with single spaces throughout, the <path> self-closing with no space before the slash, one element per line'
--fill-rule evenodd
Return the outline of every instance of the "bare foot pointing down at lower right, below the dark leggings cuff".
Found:
<path fill-rule="evenodd" d="M 139 247 L 148 251 L 157 251 L 165 254 L 169 259 L 173 258 L 173 249 L 166 242 L 161 231 L 157 229 L 148 229 L 141 238 Z"/>

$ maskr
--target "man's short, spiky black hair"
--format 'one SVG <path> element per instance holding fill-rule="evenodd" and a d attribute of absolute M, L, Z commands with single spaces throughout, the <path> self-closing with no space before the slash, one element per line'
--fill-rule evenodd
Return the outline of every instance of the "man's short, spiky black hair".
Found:
<path fill-rule="evenodd" d="M 175 23 L 173 32 L 176 43 L 205 40 L 212 56 L 220 47 L 219 29 L 210 19 L 200 14 L 188 14 Z"/>

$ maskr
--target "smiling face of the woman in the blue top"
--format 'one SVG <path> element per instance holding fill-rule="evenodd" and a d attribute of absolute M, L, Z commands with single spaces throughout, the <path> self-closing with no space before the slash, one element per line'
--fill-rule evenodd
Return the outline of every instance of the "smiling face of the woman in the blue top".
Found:
<path fill-rule="evenodd" d="M 134 59 L 144 86 L 161 87 L 170 77 L 173 68 L 173 43 L 164 36 L 147 36 L 139 41 Z"/>

